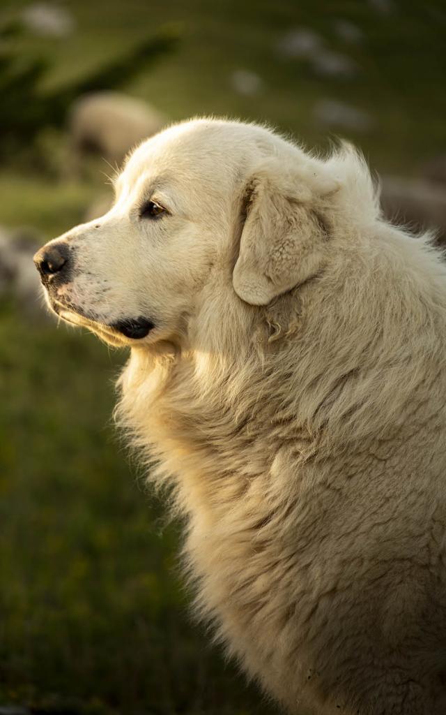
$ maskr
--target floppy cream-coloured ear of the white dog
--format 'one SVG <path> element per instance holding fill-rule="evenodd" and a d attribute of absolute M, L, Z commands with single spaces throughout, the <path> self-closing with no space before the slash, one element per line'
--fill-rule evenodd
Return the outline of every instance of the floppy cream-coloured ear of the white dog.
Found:
<path fill-rule="evenodd" d="M 233 287 L 242 300 L 268 305 L 318 272 L 328 238 L 320 207 L 337 187 L 322 171 L 296 174 L 278 159 L 258 167 L 240 202 Z"/>

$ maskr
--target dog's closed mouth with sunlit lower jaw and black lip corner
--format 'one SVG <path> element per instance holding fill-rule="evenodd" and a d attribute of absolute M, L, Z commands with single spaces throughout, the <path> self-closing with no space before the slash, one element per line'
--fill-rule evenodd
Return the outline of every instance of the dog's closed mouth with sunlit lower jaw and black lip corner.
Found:
<path fill-rule="evenodd" d="M 107 323 L 96 315 L 84 312 L 77 305 L 61 302 L 53 297 L 49 299 L 49 303 L 51 309 L 63 320 L 71 322 L 73 325 L 88 327 L 106 342 L 111 342 L 112 345 L 128 345 L 125 338 L 128 340 L 141 340 L 143 337 L 147 337 L 155 327 L 151 320 L 142 316 L 123 318 L 122 320 Z"/>

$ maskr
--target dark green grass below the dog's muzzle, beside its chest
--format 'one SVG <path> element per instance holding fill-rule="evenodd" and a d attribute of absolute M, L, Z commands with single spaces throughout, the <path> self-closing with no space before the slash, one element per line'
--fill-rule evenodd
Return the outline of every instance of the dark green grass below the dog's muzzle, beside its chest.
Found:
<path fill-rule="evenodd" d="M 1 307 L 0 705 L 261 712 L 189 623 L 176 529 L 116 442 L 122 359 Z"/>

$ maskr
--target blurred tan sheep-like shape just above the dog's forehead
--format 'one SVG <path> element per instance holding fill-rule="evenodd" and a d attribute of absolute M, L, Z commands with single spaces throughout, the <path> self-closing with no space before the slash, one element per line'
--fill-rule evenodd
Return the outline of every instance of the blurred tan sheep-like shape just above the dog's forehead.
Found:
<path fill-rule="evenodd" d="M 71 107 L 69 132 L 77 157 L 94 152 L 119 167 L 132 147 L 166 123 L 166 117 L 143 99 L 94 92 L 79 97 Z"/>

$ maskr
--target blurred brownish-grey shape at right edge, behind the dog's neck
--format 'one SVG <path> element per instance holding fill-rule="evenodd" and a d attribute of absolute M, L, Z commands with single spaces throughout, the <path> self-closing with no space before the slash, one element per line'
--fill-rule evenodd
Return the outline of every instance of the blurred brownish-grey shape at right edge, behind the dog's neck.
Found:
<path fill-rule="evenodd" d="M 423 179 L 382 177 L 381 205 L 387 219 L 412 230 L 434 229 L 446 243 L 446 192 Z"/>

